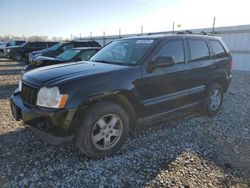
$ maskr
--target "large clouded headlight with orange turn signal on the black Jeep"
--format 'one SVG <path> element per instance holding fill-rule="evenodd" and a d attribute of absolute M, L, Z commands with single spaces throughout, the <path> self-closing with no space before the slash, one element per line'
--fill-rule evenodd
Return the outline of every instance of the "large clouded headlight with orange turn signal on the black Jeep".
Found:
<path fill-rule="evenodd" d="M 68 100 L 68 95 L 61 95 L 57 87 L 42 87 L 37 95 L 37 106 L 48 108 L 63 108 Z"/>

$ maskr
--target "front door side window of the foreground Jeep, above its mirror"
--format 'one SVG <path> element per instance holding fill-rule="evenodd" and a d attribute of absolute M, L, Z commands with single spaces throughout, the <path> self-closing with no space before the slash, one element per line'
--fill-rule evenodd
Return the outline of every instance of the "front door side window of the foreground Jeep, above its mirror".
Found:
<path fill-rule="evenodd" d="M 185 55 L 183 42 L 181 40 L 167 42 L 158 52 L 157 56 L 172 56 L 174 57 L 175 63 L 184 63 Z"/>

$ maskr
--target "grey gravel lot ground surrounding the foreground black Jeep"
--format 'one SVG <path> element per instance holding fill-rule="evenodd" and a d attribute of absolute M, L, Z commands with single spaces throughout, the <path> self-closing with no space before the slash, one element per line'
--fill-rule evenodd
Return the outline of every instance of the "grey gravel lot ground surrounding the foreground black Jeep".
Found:
<path fill-rule="evenodd" d="M 0 59 L 0 187 L 250 187 L 250 72 L 234 72 L 219 114 L 142 123 L 113 157 L 51 146 L 11 116 L 21 64 Z"/>

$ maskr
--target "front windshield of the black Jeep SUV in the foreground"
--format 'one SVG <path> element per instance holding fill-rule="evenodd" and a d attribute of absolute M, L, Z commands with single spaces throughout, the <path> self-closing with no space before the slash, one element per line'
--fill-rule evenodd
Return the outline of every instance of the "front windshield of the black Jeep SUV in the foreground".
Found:
<path fill-rule="evenodd" d="M 154 40 L 127 39 L 112 42 L 97 52 L 90 61 L 135 65 L 152 47 Z"/>

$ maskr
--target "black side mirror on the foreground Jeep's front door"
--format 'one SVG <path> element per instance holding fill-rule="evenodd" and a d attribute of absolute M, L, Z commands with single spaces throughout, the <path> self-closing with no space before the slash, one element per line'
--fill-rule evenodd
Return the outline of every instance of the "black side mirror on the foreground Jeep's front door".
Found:
<path fill-rule="evenodd" d="M 155 68 L 173 66 L 175 63 L 173 56 L 159 56 L 155 61 L 149 63 L 148 71 L 152 72 Z"/>

